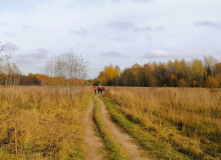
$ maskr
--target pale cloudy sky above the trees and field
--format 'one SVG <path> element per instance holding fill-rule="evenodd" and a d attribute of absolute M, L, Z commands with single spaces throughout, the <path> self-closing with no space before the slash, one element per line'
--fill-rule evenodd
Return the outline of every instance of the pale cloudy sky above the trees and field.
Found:
<path fill-rule="evenodd" d="M 221 60 L 220 0 L 0 0 L 0 42 L 23 74 L 73 49 L 88 78 L 105 66 Z"/>

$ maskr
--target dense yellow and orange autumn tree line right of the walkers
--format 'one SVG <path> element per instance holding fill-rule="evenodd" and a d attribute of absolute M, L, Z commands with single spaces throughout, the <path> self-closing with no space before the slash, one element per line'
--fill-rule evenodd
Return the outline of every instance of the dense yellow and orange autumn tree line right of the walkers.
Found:
<path fill-rule="evenodd" d="M 100 72 L 94 84 L 139 87 L 221 87 L 221 62 L 213 56 L 167 63 L 134 64 L 120 70 L 109 65 Z"/>

